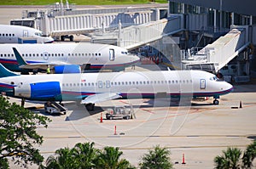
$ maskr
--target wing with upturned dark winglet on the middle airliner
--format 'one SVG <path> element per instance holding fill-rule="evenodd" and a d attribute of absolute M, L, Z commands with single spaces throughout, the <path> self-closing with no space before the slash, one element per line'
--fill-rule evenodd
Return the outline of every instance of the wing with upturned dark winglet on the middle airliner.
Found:
<path fill-rule="evenodd" d="M 52 69 L 55 65 L 67 65 L 67 63 L 62 63 L 62 62 L 58 62 L 58 63 L 44 62 L 44 63 L 28 64 L 26 62 L 26 60 L 22 58 L 22 56 L 20 55 L 20 53 L 18 52 L 18 50 L 16 48 L 13 48 L 13 50 L 14 50 L 15 58 L 17 59 L 20 69 L 44 69 L 44 70 L 46 70 L 48 65 L 49 65 L 50 69 Z"/>

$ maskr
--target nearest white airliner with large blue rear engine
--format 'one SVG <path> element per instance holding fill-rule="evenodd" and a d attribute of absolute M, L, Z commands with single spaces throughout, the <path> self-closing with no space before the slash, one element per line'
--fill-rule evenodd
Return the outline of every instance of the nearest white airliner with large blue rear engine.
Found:
<path fill-rule="evenodd" d="M 232 85 L 202 70 L 158 70 L 84 74 L 20 75 L 0 65 L 0 92 L 41 101 L 79 101 L 87 110 L 111 99 L 213 97 L 230 93 Z"/>

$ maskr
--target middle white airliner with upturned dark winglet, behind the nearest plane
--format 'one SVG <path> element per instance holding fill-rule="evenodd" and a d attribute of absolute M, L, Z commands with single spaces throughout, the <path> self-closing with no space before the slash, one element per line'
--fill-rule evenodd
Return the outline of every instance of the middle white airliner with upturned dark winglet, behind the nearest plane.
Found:
<path fill-rule="evenodd" d="M 18 64 L 17 60 L 21 60 L 21 63 Z M 0 44 L 0 63 L 13 71 L 20 71 L 20 68 L 46 70 L 47 65 L 81 65 L 90 70 L 122 70 L 137 61 L 139 58 L 129 54 L 125 48 L 106 44 Z"/>

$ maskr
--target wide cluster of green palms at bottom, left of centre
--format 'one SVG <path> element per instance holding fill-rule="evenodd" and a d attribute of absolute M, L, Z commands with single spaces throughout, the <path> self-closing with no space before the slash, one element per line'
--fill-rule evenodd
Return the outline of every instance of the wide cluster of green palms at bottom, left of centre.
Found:
<path fill-rule="evenodd" d="M 123 154 L 119 148 L 105 147 L 103 151 L 93 148 L 94 143 L 76 144 L 73 149 L 58 149 L 56 157 L 49 156 L 46 169 L 131 169 L 129 161 L 119 160 Z"/>

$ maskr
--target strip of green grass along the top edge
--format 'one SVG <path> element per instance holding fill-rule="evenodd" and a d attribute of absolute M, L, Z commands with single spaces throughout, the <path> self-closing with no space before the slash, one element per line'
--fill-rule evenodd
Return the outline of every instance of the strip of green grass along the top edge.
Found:
<path fill-rule="evenodd" d="M 154 0 L 69 0 L 68 3 L 76 5 L 122 5 L 151 3 Z M 49 5 L 61 0 L 8 0 L 0 1 L 0 5 Z M 66 0 L 63 0 L 66 3 Z M 155 0 L 155 3 L 168 3 L 167 0 Z"/>

